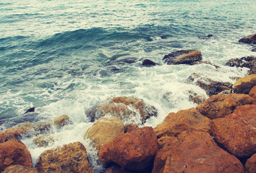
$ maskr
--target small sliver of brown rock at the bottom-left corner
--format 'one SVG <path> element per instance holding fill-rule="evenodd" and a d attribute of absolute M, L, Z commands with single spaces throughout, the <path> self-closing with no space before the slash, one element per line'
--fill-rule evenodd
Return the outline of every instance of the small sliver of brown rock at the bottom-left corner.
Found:
<path fill-rule="evenodd" d="M 6 169 L 2 173 L 39 173 L 37 169 L 32 167 L 25 167 L 22 165 L 14 164 Z"/>

